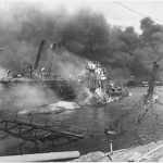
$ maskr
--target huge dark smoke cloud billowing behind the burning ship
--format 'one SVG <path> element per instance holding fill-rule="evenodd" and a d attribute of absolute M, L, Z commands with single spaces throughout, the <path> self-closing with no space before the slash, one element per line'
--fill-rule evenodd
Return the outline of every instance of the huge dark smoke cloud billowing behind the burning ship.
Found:
<path fill-rule="evenodd" d="M 141 35 L 134 27 L 111 27 L 102 14 L 88 8 L 70 14 L 65 9 L 48 11 L 41 3 L 13 2 L 1 17 L 0 46 L 4 49 L 0 51 L 0 66 L 4 70 L 21 72 L 24 62 L 34 64 L 41 39 L 57 42 L 55 54 L 60 57 L 54 59 L 60 61 L 53 61 L 53 70 L 68 67 L 70 63 L 72 70 L 79 63 L 83 67 L 83 61 L 85 64 L 92 58 L 108 68 L 111 78 L 122 82 L 130 75 L 149 78 L 152 62 L 162 58 L 163 27 L 149 17 L 140 22 Z M 43 50 L 39 68 L 48 62 L 49 52 Z"/>

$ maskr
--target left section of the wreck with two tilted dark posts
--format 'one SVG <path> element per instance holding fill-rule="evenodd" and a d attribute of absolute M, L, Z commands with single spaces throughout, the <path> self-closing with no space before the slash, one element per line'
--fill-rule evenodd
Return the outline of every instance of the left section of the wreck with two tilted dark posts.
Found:
<path fill-rule="evenodd" d="M 46 88 L 52 89 L 57 96 L 63 100 L 75 99 L 76 95 L 72 87 L 73 82 L 63 78 L 61 75 L 51 75 L 55 43 L 52 43 L 50 47 L 51 57 L 48 70 L 45 67 L 42 67 L 41 71 L 37 70 L 45 42 L 46 40 L 41 40 L 34 66 L 29 63 L 24 63 L 24 67 L 21 74 L 11 74 L 11 72 L 8 71 L 7 75 L 0 80 L 0 84 L 2 84 L 4 88 L 12 88 L 13 86 L 21 87 L 23 85 L 37 85 L 45 90 Z"/>

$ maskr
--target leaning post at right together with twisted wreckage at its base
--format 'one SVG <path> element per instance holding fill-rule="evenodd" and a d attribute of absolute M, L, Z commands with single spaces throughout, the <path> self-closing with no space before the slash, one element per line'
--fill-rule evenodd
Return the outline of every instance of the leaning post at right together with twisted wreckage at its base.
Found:
<path fill-rule="evenodd" d="M 151 113 L 152 115 L 155 116 L 155 118 L 159 117 L 158 114 L 155 114 L 152 111 L 153 108 L 153 91 L 154 91 L 154 80 L 156 76 L 156 72 L 159 68 L 159 64 L 156 62 L 153 62 L 153 68 L 151 73 L 151 79 L 150 79 L 150 85 L 147 95 L 145 95 L 136 104 L 134 104 L 129 110 L 124 112 L 122 115 L 120 115 L 111 125 L 112 129 L 116 131 L 115 136 L 118 136 L 122 133 L 127 131 L 127 128 L 124 128 L 124 121 L 134 111 L 137 111 L 138 116 L 136 117 L 136 122 L 134 124 L 134 135 L 139 139 L 139 135 L 137 134 L 137 127 L 140 124 L 141 120 L 145 117 L 147 113 Z M 110 129 L 109 129 L 110 130 Z M 120 131 L 118 131 L 120 130 Z"/>

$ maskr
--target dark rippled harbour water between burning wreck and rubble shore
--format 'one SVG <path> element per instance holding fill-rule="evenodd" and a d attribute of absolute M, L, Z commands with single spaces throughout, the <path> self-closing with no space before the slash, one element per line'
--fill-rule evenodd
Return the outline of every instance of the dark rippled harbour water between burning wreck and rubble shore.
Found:
<path fill-rule="evenodd" d="M 153 104 L 151 111 L 148 112 L 137 125 L 137 135 L 134 133 L 134 127 L 138 116 L 145 112 L 142 110 L 134 111 L 126 116 L 121 125 L 123 125 L 124 134 L 113 137 L 108 137 L 104 134 L 104 129 L 125 111 L 129 110 L 135 103 L 137 103 L 142 95 L 147 93 L 147 87 L 129 88 L 131 92 L 130 97 L 125 98 L 122 101 L 112 102 L 102 106 L 82 106 L 80 109 L 67 110 L 60 114 L 47 114 L 49 120 L 60 120 L 64 123 L 88 128 L 89 131 L 85 134 L 85 138 L 67 142 L 64 140 L 55 140 L 54 145 L 51 141 L 46 141 L 39 146 L 39 152 L 50 151 L 79 151 L 82 154 L 93 151 L 110 151 L 110 139 L 113 141 L 113 150 L 124 149 L 135 146 L 145 145 L 154 140 L 162 139 L 162 123 L 163 123 L 163 105 L 160 103 Z M 163 92 L 163 87 L 158 87 L 158 91 Z M 163 101 L 161 95 L 159 101 Z M 155 115 L 159 115 L 156 117 Z M 153 133 L 152 133 L 153 131 Z M 154 133 L 155 131 L 155 133 Z M 7 140 L 5 140 L 7 139 Z M 20 147 L 15 138 L 9 136 L 3 140 L 0 140 L 0 154 L 10 155 L 18 154 Z M 4 141 L 7 141 L 4 143 Z M 36 153 L 35 146 L 32 142 L 26 142 L 22 147 L 23 153 Z"/>

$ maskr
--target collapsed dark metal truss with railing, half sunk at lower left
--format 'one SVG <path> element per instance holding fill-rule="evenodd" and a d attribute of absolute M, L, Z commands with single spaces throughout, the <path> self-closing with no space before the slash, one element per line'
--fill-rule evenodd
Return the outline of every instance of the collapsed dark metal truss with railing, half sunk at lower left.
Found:
<path fill-rule="evenodd" d="M 82 134 L 87 133 L 87 129 L 83 127 L 36 115 L 18 115 L 10 110 L 0 110 L 0 130 L 23 139 L 22 145 L 26 141 L 34 142 L 37 151 L 37 145 L 47 139 L 51 140 L 52 145 L 60 138 L 65 138 L 71 142 L 85 138 Z"/>

